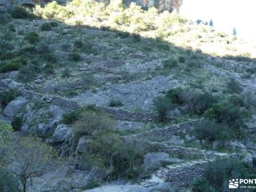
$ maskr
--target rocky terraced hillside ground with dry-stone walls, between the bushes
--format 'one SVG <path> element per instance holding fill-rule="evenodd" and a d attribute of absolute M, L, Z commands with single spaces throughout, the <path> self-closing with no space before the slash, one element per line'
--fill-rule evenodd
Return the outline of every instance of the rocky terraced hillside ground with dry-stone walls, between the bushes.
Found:
<path fill-rule="evenodd" d="M 187 32 L 175 30 L 173 24 L 175 33 L 161 42 L 150 38 L 147 32 L 137 41 L 132 35 L 118 36 L 118 31 L 69 26 L 59 21 L 54 21 L 57 26 L 51 30 L 42 31 L 42 24 L 48 22 L 50 20 L 13 19 L 8 26 L 0 27 L 1 42 L 8 41 L 13 47 L 8 52 L 14 55 L 31 46 L 26 40 L 29 31 L 36 31 L 41 43 L 33 45 L 34 49 L 40 49 L 36 54 L 33 50 L 26 52 L 26 59 L 37 60 L 39 72 L 25 73 L 26 80 L 24 76 L 20 78 L 24 70 L 0 73 L 0 119 L 12 123 L 19 116 L 21 132 L 43 138 L 63 157 L 76 154 L 75 160 L 67 157 L 67 161 L 33 179 L 28 191 L 174 191 L 175 188 L 182 191 L 187 190 L 196 177 L 204 177 L 204 164 L 217 157 L 236 157 L 252 163 L 256 156 L 255 141 L 228 141 L 225 148 L 218 148 L 218 142 L 213 142 L 211 148 L 204 148 L 209 143 L 189 134 L 204 117 L 184 115 L 184 109 L 177 107 L 168 111 L 168 122 L 162 123 L 158 122 L 154 108 L 154 99 L 172 88 L 190 86 L 218 95 L 225 92 L 232 78 L 243 87 L 241 95 L 255 94 L 255 59 L 252 56 L 251 59 L 236 58 L 237 50 L 243 47 L 240 40 L 191 22 L 181 27 L 176 25 Z M 10 26 L 15 31 L 10 31 Z M 6 36 L 10 36 L 10 40 Z M 78 40 L 83 47 L 76 45 Z M 38 52 L 45 49 L 56 60 L 50 58 L 49 62 L 40 56 Z M 73 49 L 79 54 L 77 60 L 71 55 Z M 227 54 L 232 52 L 234 56 L 225 57 L 224 51 L 217 49 Z M 191 65 L 189 60 L 193 58 L 188 52 L 196 55 Z M 172 55 L 184 56 L 186 61 L 177 67 L 164 67 L 163 61 Z M 4 65 L 6 60 L 2 61 Z M 50 72 L 45 67 L 48 63 L 53 64 Z M 19 94 L 4 105 L 3 93 L 9 90 Z M 111 100 L 122 104 L 111 106 Z M 74 138 L 72 126 L 63 124 L 61 117 L 91 104 L 116 120 L 123 140 L 152 149 L 145 154 L 143 166 L 154 172 L 135 181 L 106 181 L 102 170 L 84 170 L 79 157 L 86 154 L 86 138 Z M 247 123 L 250 132 L 255 133 L 255 114 L 252 116 Z M 103 186 L 93 186 L 98 182 Z"/>

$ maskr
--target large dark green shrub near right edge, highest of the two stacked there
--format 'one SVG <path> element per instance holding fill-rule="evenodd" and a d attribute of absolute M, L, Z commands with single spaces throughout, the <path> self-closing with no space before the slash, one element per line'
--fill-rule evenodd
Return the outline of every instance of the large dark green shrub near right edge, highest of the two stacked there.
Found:
<path fill-rule="evenodd" d="M 227 124 L 234 129 L 239 129 L 239 127 L 244 125 L 244 121 L 250 117 L 250 113 L 246 109 L 223 101 L 214 104 L 212 108 L 205 111 L 205 116 L 216 120 L 218 123 Z"/>

